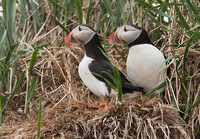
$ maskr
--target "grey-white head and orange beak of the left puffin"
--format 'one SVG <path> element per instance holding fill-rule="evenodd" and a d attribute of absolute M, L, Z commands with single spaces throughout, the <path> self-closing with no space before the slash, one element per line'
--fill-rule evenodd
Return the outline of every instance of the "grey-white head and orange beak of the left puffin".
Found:
<path fill-rule="evenodd" d="M 95 30 L 91 26 L 87 24 L 78 25 L 67 35 L 65 39 L 65 45 L 84 45 L 85 43 L 89 42 L 95 34 Z"/>

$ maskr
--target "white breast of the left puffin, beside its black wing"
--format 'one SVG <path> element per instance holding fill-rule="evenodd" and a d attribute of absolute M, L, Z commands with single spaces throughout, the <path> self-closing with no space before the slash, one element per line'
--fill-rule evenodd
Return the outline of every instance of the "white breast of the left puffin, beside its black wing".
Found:
<path fill-rule="evenodd" d="M 82 61 L 80 62 L 78 72 L 81 80 L 93 93 L 95 93 L 98 96 L 109 97 L 113 94 L 116 94 L 113 89 L 111 89 L 111 93 L 109 94 L 105 83 L 95 78 L 95 76 L 91 73 L 91 71 L 89 70 L 89 64 L 92 63 L 93 60 L 94 59 L 85 55 Z"/>

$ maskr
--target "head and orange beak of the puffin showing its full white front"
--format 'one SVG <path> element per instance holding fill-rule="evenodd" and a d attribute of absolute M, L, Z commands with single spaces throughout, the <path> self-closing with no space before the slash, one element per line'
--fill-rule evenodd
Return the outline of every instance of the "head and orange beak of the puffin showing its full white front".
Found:
<path fill-rule="evenodd" d="M 144 29 L 136 25 L 123 25 L 110 36 L 108 43 L 114 45 L 128 45 L 134 42 Z"/>

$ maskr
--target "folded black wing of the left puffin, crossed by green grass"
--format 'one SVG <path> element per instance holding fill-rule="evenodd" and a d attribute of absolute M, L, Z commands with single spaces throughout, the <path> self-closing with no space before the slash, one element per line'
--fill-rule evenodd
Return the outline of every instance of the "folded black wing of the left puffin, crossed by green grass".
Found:
<path fill-rule="evenodd" d="M 92 73 L 97 73 L 101 76 L 103 76 L 106 80 L 108 80 L 109 82 L 111 82 L 114 85 L 113 80 L 105 73 L 110 73 L 111 75 L 114 76 L 113 74 L 113 69 L 110 65 L 110 63 L 108 61 L 93 61 L 90 65 L 89 65 L 89 70 Z M 133 91 L 140 91 L 143 92 L 143 88 L 141 87 L 136 87 L 134 85 L 132 85 L 128 79 L 126 79 L 126 77 L 124 76 L 124 74 L 119 70 L 120 72 L 120 77 L 121 77 L 121 81 L 122 81 L 122 92 L 123 93 L 132 93 Z M 100 77 L 97 76 L 95 74 L 93 74 L 98 80 L 105 82 L 106 81 Z M 107 83 L 106 83 L 107 84 Z"/>

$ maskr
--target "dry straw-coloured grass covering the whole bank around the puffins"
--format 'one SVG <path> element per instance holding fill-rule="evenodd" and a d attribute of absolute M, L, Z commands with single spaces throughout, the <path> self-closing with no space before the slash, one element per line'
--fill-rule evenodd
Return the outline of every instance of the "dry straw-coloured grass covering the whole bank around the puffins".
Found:
<path fill-rule="evenodd" d="M 87 5 L 85 5 L 87 7 Z M 48 7 L 48 6 L 47 6 Z M 84 7 L 84 6 L 83 6 Z M 93 10 L 97 11 L 100 6 L 94 4 Z M 51 10 L 49 10 L 51 11 Z M 171 77 L 166 88 L 165 101 L 154 98 L 140 98 L 136 101 L 123 99 L 122 106 L 116 107 L 115 98 L 106 109 L 91 109 L 88 104 L 100 104 L 104 100 L 98 98 L 87 88 L 82 88 L 82 81 L 78 76 L 78 64 L 84 53 L 82 46 L 64 47 L 65 34 L 59 27 L 50 27 L 52 17 L 47 14 L 45 24 L 40 28 L 42 32 L 34 36 L 28 32 L 33 32 L 29 27 L 24 26 L 23 38 L 19 42 L 26 40 L 29 44 L 38 44 L 44 40 L 51 40 L 51 46 L 42 48 L 37 56 L 34 65 L 34 75 L 37 77 L 36 91 L 39 91 L 42 98 L 42 138 L 195 138 L 199 135 L 200 106 L 189 112 L 185 120 L 180 124 L 180 117 L 185 111 L 187 100 L 181 95 L 181 82 L 175 67 L 176 59 L 168 63 L 171 70 Z M 86 13 L 83 13 L 85 15 Z M 174 11 L 171 11 L 171 15 Z M 76 15 L 74 15 L 76 16 Z M 96 26 L 101 16 L 91 15 L 91 25 Z M 67 29 L 72 30 L 77 26 L 77 21 L 69 19 Z M 146 18 L 142 20 L 145 27 Z M 153 26 L 153 23 L 149 23 Z M 111 34 L 110 19 L 107 24 L 107 36 Z M 174 36 L 170 33 L 163 35 L 160 32 L 160 39 L 155 44 L 160 46 L 161 51 L 167 57 L 179 55 L 181 63 L 177 69 L 182 72 L 182 61 L 184 48 L 171 47 L 172 38 L 181 44 L 188 38 L 187 34 L 180 26 L 173 22 L 170 28 Z M 25 31 L 26 30 L 26 31 Z M 150 32 L 150 30 L 147 30 Z M 103 34 L 100 29 L 99 34 Z M 100 35 L 101 40 L 103 36 Z M 102 42 L 103 43 L 103 42 Z M 18 50 L 25 45 L 20 43 Z M 119 50 L 127 56 L 128 48 L 122 47 Z M 186 74 L 191 76 L 188 81 L 188 92 L 190 104 L 192 105 L 200 96 L 200 52 L 196 45 L 192 45 L 187 56 Z M 109 57 L 114 61 L 120 70 L 126 73 L 125 62 L 114 49 L 106 49 Z M 28 69 L 31 53 L 25 53 L 17 61 L 18 70 L 25 71 L 26 76 L 22 85 L 22 92 L 9 101 L 8 108 L 3 113 L 3 125 L 0 127 L 1 138 L 36 138 L 37 134 L 37 114 L 38 96 L 34 93 L 30 102 L 30 112 L 25 115 L 24 96 L 27 90 Z M 171 82 L 172 77 L 175 82 Z M 174 87 L 176 86 L 176 87 Z M 14 87 L 13 87 L 14 88 Z M 175 90 L 174 90 L 175 88 Z M 173 100 L 173 96 L 176 96 Z M 174 108 L 173 104 L 178 107 Z"/>

